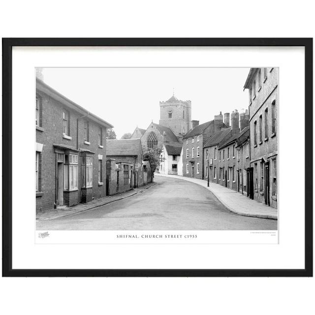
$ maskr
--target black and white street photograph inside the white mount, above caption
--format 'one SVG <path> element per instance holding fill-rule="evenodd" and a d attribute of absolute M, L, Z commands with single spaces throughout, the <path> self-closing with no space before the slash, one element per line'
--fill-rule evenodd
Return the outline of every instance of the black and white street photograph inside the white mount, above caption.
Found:
<path fill-rule="evenodd" d="M 277 231 L 278 77 L 36 67 L 36 230 Z"/>

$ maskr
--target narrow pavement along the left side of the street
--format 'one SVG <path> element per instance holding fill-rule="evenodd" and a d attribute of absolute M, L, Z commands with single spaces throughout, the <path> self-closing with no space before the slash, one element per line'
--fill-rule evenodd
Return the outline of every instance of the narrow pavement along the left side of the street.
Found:
<path fill-rule="evenodd" d="M 37 221 L 52 220 L 52 219 L 66 217 L 66 216 L 74 215 L 76 213 L 88 211 L 88 210 L 106 205 L 108 203 L 111 203 L 117 200 L 122 200 L 128 197 L 131 197 L 137 193 L 143 192 L 144 189 L 148 189 L 153 185 L 155 185 L 155 183 L 149 183 L 145 186 L 141 186 L 138 188 L 125 191 L 125 192 L 117 193 L 113 196 L 106 196 L 106 197 L 98 198 L 90 202 L 80 203 L 72 207 L 62 206 L 62 207 L 58 207 L 57 209 L 50 209 L 50 210 L 38 212 L 36 213 L 36 220 Z"/>

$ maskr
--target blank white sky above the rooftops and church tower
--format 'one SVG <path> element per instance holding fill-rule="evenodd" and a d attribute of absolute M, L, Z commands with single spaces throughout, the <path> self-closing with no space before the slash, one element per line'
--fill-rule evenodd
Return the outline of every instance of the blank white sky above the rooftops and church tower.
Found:
<path fill-rule="evenodd" d="M 117 138 L 158 124 L 159 101 L 191 100 L 200 124 L 248 107 L 250 68 L 43 68 L 44 82 L 114 126 Z"/>

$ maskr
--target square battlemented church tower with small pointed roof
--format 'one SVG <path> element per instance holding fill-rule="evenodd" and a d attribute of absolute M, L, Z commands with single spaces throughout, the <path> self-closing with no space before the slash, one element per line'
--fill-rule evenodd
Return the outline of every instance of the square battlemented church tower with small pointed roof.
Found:
<path fill-rule="evenodd" d="M 175 95 L 159 102 L 159 125 L 169 127 L 177 137 L 191 129 L 191 101 L 177 99 Z"/>

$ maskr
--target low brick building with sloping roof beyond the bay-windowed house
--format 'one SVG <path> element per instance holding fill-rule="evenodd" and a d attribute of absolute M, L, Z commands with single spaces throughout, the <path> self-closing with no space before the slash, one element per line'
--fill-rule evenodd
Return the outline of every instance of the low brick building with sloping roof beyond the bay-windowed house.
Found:
<path fill-rule="evenodd" d="M 148 171 L 151 181 L 150 165 L 143 163 L 140 139 L 106 140 L 106 144 L 108 195 L 146 184 Z"/>

